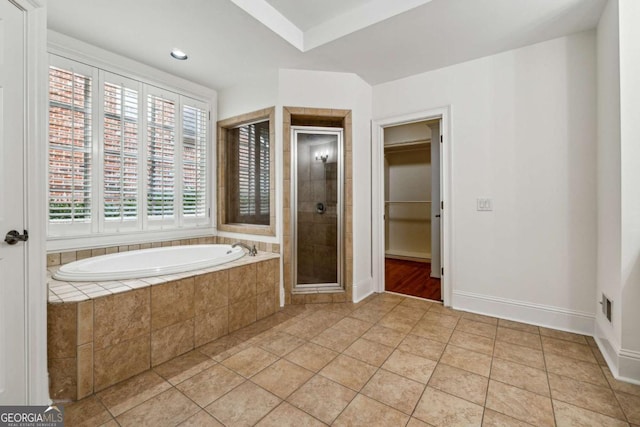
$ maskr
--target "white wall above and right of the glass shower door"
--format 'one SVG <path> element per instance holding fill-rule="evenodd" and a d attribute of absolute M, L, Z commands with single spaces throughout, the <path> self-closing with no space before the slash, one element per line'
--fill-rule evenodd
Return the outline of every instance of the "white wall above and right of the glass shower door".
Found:
<path fill-rule="evenodd" d="M 371 279 L 371 86 L 355 74 L 280 70 L 280 106 L 352 111 L 353 297 L 373 291 Z M 277 131 L 282 141 L 282 127 Z"/>

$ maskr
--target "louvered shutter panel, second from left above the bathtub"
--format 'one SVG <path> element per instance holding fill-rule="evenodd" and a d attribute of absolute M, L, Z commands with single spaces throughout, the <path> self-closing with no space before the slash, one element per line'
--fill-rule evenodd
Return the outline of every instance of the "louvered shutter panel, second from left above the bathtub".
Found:
<path fill-rule="evenodd" d="M 129 86 L 129 87 L 127 87 Z M 138 84 L 107 75 L 103 109 L 104 217 L 107 222 L 137 220 L 140 179 Z"/>

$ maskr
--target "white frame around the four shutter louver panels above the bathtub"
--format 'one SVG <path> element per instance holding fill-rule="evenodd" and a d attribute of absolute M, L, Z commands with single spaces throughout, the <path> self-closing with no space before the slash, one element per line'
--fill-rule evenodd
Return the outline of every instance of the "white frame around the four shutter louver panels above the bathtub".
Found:
<path fill-rule="evenodd" d="M 177 86 L 170 87 L 162 84 L 156 84 L 138 75 L 131 73 L 123 73 L 117 69 L 104 69 L 103 64 L 92 65 L 90 61 L 77 60 L 68 58 L 66 55 L 58 53 L 49 53 L 49 67 L 58 67 L 62 69 L 74 70 L 78 72 L 90 71 L 92 79 L 92 135 L 91 135 L 91 220 L 85 227 L 80 229 L 75 224 L 52 224 L 49 221 L 49 202 L 47 202 L 47 250 L 57 251 L 65 249 L 78 249 L 90 247 L 113 246 L 120 244 L 153 242 L 187 239 L 194 237 L 203 237 L 212 235 L 215 232 L 213 219 L 211 218 L 211 201 L 212 187 L 214 185 L 215 173 L 212 170 L 212 157 L 215 153 L 212 144 L 213 129 L 211 123 L 212 102 L 193 96 L 189 91 L 182 90 Z M 85 73 L 86 74 L 86 73 Z M 143 74 L 143 73 L 141 73 Z M 49 73 L 47 73 L 49 81 Z M 127 88 L 129 85 L 135 86 L 138 95 L 138 217 L 132 221 L 114 221 L 111 222 L 105 217 L 104 194 L 104 132 L 105 132 L 105 83 L 122 84 L 125 83 Z M 147 96 L 149 93 L 164 93 L 175 100 L 175 135 L 174 147 L 180 150 L 175 153 L 174 171 L 175 171 L 175 189 L 174 191 L 174 215 L 171 220 L 149 221 L 147 218 Z M 213 97 L 215 100 L 215 96 Z M 205 208 L 204 215 L 186 216 L 183 215 L 182 208 L 182 186 L 184 179 L 182 176 L 182 146 L 183 146 L 183 114 L 184 107 L 190 106 L 202 109 L 206 114 L 206 168 L 205 177 Z M 47 97 L 47 117 L 49 115 L 49 100 Z M 48 127 L 47 127 L 48 129 Z M 47 136 L 47 141 L 49 137 Z M 49 142 L 47 142 L 47 153 L 49 153 Z M 49 162 L 47 161 L 47 167 Z M 47 172 L 49 177 L 49 172 Z M 48 180 L 49 178 L 47 178 Z M 47 200 L 49 194 L 49 185 L 47 182 Z M 202 210 L 200 210 L 202 212 Z"/>

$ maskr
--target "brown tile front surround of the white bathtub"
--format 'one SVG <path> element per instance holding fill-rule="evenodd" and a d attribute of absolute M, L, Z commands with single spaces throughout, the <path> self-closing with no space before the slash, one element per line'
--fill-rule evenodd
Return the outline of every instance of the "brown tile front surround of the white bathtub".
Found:
<path fill-rule="evenodd" d="M 119 288 L 128 282 L 63 288 L 60 298 L 73 302 L 47 305 L 51 397 L 84 398 L 279 310 L 277 255 L 212 270 L 137 281 L 144 286 L 126 292 Z M 117 292 L 89 299 L 88 285 Z"/>

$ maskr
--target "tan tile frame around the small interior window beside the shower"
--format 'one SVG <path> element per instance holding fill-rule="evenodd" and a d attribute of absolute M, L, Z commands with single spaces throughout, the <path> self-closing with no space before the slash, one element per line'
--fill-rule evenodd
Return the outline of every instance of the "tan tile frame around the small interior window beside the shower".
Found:
<path fill-rule="evenodd" d="M 269 122 L 269 224 L 232 223 L 227 218 L 227 192 L 226 171 L 229 155 L 227 153 L 227 131 L 243 125 L 268 121 Z M 275 206 L 275 107 L 265 108 L 230 117 L 218 121 L 217 125 L 217 228 L 219 231 L 242 233 L 249 235 L 275 236 L 276 235 L 276 206 Z"/>

